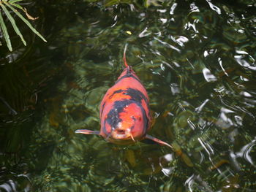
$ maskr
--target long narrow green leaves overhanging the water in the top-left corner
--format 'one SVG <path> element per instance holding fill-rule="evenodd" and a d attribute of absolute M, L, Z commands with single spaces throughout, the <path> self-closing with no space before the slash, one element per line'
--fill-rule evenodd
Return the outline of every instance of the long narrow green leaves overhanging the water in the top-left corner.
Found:
<path fill-rule="evenodd" d="M 23 42 L 23 45 L 26 46 L 26 41 L 23 38 L 23 35 L 20 33 L 20 30 L 18 26 L 16 25 L 15 19 L 12 17 L 10 10 L 15 13 L 21 20 L 23 20 L 24 23 L 26 23 L 27 26 L 31 29 L 31 31 L 34 32 L 34 34 L 37 34 L 38 37 L 40 37 L 44 42 L 46 42 L 45 38 L 42 37 L 41 34 L 33 27 L 31 26 L 31 23 L 29 23 L 29 20 L 23 17 L 23 15 L 20 14 L 19 11 L 25 12 L 26 17 L 30 20 L 36 20 L 37 18 L 33 18 L 29 15 L 29 13 L 26 11 L 26 8 L 23 8 L 20 6 L 20 4 L 17 4 L 19 1 L 23 0 L 0 0 L 0 28 L 2 31 L 2 34 L 4 36 L 5 41 L 7 42 L 7 47 L 10 51 L 12 51 L 12 43 L 10 40 L 10 36 L 7 30 L 7 26 L 4 23 L 3 14 L 7 16 L 7 19 L 10 20 L 10 23 L 12 24 L 13 29 L 15 30 L 16 34 L 20 37 L 21 41 Z M 18 8 L 15 9 L 15 8 Z"/>

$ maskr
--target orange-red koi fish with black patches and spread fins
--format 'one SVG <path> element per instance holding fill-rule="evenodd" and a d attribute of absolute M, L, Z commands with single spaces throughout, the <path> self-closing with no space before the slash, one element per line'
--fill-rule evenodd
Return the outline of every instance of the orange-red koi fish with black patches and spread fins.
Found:
<path fill-rule="evenodd" d="M 108 142 L 129 145 L 150 139 L 160 145 L 171 145 L 147 134 L 151 128 L 151 113 L 146 89 L 139 77 L 127 64 L 127 45 L 124 48 L 124 71 L 109 88 L 102 99 L 99 110 L 100 131 L 78 129 L 78 134 L 97 134 Z"/>

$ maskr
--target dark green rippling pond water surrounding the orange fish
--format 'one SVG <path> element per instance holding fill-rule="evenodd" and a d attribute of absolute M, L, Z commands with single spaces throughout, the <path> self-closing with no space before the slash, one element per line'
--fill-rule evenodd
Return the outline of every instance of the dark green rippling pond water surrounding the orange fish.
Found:
<path fill-rule="evenodd" d="M 48 42 L 1 46 L 0 191 L 256 191 L 255 2 L 111 2 L 36 2 Z M 126 44 L 176 151 L 75 134 L 99 131 Z"/>

